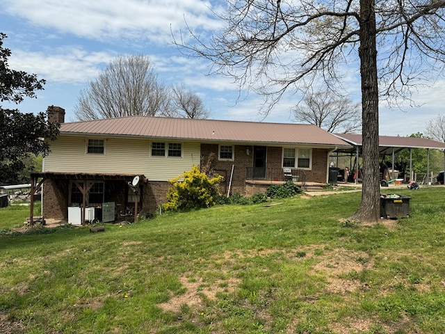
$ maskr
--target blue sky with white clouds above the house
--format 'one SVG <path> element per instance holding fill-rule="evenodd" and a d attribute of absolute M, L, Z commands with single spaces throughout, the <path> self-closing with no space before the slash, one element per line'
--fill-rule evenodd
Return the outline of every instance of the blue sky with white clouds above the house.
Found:
<path fill-rule="evenodd" d="M 4 47 L 13 52 L 9 65 L 46 79 L 37 99 L 17 108 L 23 112 L 45 111 L 61 106 L 66 121 L 76 120 L 73 108 L 79 91 L 86 88 L 116 56 L 144 54 L 152 58 L 159 80 L 184 84 L 202 97 L 211 118 L 266 122 L 293 122 L 291 106 L 296 96 L 285 95 L 267 118 L 259 114 L 262 97 L 242 93 L 231 79 L 209 76 L 209 63 L 187 58 L 172 45 L 172 34 L 186 29 L 186 22 L 210 36 L 220 29 L 211 10 L 220 1 L 200 0 L 2 0 L 0 31 L 8 38 Z M 358 68 L 357 71 L 358 72 Z M 350 93 L 359 99 L 359 78 L 351 78 Z M 380 106 L 380 134 L 408 136 L 424 132 L 425 124 L 444 113 L 445 82 L 419 88 L 413 96 L 421 105 L 403 110 Z M 8 106 L 3 104 L 3 106 Z"/>

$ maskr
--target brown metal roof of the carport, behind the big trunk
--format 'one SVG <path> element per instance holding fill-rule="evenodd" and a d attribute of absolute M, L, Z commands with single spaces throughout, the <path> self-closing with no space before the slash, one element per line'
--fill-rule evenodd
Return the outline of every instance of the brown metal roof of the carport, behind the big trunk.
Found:
<path fill-rule="evenodd" d="M 339 138 L 355 146 L 362 146 L 361 134 L 336 134 Z M 379 150 L 381 153 L 389 153 L 392 148 L 403 150 L 404 148 L 431 148 L 445 150 L 445 143 L 432 141 L 428 138 L 400 137 L 400 136 L 379 136 Z"/>

